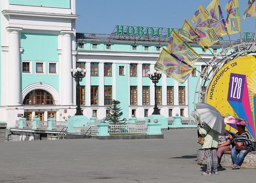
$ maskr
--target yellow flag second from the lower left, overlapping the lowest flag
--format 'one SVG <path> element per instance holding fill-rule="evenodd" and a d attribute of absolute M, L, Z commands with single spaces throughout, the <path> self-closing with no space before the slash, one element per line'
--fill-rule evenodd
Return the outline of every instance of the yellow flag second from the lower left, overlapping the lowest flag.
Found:
<path fill-rule="evenodd" d="M 196 53 L 194 49 L 176 33 L 176 31 L 172 32 L 167 50 L 191 66 L 193 66 L 200 57 L 200 55 L 198 55 L 198 53 Z"/>

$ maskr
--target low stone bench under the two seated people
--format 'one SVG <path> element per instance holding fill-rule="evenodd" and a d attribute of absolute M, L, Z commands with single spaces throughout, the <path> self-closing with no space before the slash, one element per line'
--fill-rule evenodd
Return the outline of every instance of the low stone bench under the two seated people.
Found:
<path fill-rule="evenodd" d="M 203 149 L 197 150 L 197 164 L 206 165 Z M 221 167 L 232 167 L 233 163 L 231 160 L 231 151 L 226 151 L 223 153 L 220 165 Z M 240 166 L 241 168 L 256 168 L 256 151 L 248 153 Z"/>

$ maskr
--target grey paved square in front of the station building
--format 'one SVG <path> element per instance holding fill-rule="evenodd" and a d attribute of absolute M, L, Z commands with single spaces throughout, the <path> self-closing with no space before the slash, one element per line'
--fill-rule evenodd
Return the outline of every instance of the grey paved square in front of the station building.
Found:
<path fill-rule="evenodd" d="M 0 182 L 255 182 L 256 170 L 249 168 L 202 176 L 206 167 L 196 162 L 196 129 L 163 134 L 164 139 L 0 142 Z"/>

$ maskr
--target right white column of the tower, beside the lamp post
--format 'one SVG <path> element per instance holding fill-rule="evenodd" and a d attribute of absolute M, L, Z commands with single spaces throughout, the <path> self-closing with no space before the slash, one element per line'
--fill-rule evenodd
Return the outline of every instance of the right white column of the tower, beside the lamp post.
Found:
<path fill-rule="evenodd" d="M 60 72 L 60 105 L 73 105 L 72 96 L 72 83 L 73 78 L 70 74 L 72 68 L 72 47 L 71 47 L 71 35 L 74 31 L 62 30 L 61 35 L 61 72 Z M 75 68 L 74 68 L 75 69 Z"/>

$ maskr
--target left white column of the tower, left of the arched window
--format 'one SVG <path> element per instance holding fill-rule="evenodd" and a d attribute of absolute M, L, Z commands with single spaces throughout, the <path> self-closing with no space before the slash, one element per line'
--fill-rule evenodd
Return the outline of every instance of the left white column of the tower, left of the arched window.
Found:
<path fill-rule="evenodd" d="M 21 105 L 21 59 L 19 27 L 6 27 L 8 31 L 8 106 Z"/>

